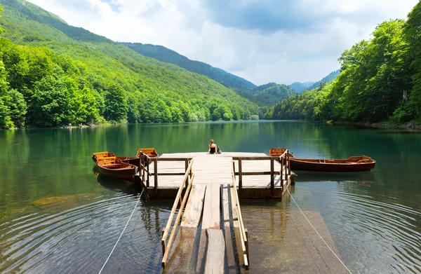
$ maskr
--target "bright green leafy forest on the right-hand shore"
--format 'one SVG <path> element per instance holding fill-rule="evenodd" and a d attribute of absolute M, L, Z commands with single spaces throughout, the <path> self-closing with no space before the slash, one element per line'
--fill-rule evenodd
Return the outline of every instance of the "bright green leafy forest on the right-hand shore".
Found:
<path fill-rule="evenodd" d="M 339 58 L 340 75 L 288 97 L 265 118 L 421 123 L 421 2 L 408 20 L 377 25 Z"/>

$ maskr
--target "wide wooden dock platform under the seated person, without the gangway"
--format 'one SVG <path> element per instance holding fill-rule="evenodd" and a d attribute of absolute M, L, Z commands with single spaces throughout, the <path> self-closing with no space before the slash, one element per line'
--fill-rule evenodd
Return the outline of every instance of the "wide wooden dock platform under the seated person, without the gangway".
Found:
<path fill-rule="evenodd" d="M 284 177 L 281 180 L 281 164 L 274 160 L 272 191 L 271 158 L 275 157 L 269 157 L 265 153 L 164 153 L 156 164 L 149 164 L 149 172 L 153 176 L 149 178 L 147 193 L 151 198 L 174 198 L 182 175 L 185 174 L 187 159 L 193 159 L 195 184 L 231 184 L 234 167 L 236 179 L 239 181 L 239 198 L 282 198 L 286 187 L 295 183 L 295 174 L 291 172 L 289 178 Z"/>

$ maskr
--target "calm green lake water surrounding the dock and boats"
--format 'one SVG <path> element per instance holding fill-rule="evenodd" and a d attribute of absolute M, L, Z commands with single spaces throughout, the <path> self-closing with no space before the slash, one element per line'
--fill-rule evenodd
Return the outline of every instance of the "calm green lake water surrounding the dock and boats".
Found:
<path fill-rule="evenodd" d="M 206 151 L 211 138 L 222 151 L 286 146 L 300 158 L 374 158 L 371 172 L 298 173 L 293 197 L 320 212 L 352 273 L 421 273 L 421 133 L 296 121 L 0 131 L 0 272 L 98 273 L 138 190 L 98 179 L 91 153 Z M 104 273 L 161 273 L 159 238 L 171 206 L 142 201 Z M 297 210 L 289 199 L 245 203 L 250 235 L 277 233 L 279 220 L 267 220 L 287 209 Z M 253 261 L 271 256 L 260 238 L 250 240 L 251 273 L 267 272 Z"/>

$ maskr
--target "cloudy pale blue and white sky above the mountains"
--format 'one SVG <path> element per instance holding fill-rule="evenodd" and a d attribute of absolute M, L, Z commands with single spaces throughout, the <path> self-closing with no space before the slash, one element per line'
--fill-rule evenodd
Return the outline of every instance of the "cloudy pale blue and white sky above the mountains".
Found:
<path fill-rule="evenodd" d="M 113 41 L 151 43 L 256 85 L 319 81 L 418 0 L 29 0 Z"/>

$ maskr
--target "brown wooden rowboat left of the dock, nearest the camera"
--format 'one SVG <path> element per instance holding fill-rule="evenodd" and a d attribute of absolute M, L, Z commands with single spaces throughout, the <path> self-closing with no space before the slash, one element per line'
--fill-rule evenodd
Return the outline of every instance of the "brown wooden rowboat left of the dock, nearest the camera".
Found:
<path fill-rule="evenodd" d="M 136 173 L 135 165 L 123 163 L 123 161 L 116 158 L 116 156 L 97 157 L 96 160 L 100 174 L 116 179 L 133 181 L 133 175 Z"/>

